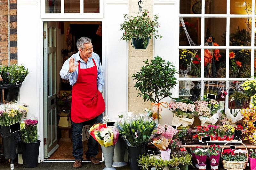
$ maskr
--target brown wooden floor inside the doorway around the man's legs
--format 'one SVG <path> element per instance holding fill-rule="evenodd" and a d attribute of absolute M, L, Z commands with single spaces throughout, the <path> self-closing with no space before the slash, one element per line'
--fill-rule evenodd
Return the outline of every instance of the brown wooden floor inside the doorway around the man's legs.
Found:
<path fill-rule="evenodd" d="M 83 141 L 83 158 L 85 159 L 85 152 L 87 151 L 87 141 Z M 48 159 L 64 159 L 64 160 L 70 160 L 74 159 L 74 156 L 72 155 L 73 152 L 73 145 L 72 141 L 70 142 L 63 142 L 63 141 L 58 141 L 59 148 L 57 151 L 55 151 L 52 156 Z M 99 144 L 99 153 L 96 156 L 96 159 L 102 159 L 102 153 L 101 153 L 101 147 Z"/>

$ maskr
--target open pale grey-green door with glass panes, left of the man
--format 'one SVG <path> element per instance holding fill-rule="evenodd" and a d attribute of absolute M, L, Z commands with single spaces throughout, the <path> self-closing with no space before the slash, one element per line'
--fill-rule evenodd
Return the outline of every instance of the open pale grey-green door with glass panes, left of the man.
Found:
<path fill-rule="evenodd" d="M 56 22 L 44 22 L 44 158 L 57 144 Z"/>

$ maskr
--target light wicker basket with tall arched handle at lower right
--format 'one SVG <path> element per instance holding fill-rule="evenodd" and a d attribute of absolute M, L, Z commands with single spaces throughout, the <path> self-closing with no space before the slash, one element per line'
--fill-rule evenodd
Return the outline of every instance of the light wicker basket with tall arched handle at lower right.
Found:
<path fill-rule="evenodd" d="M 228 141 L 226 144 L 228 144 L 229 142 L 232 142 L 232 141 L 236 141 L 236 142 L 240 142 L 238 140 L 231 140 L 231 141 Z M 241 144 L 243 144 L 242 142 L 240 142 Z M 223 149 L 224 147 L 226 146 L 226 144 L 223 145 L 223 148 L 222 148 L 222 151 L 223 152 Z M 244 145 L 244 144 L 243 144 Z M 247 162 L 248 162 L 248 151 L 247 151 L 247 147 L 244 145 L 245 147 L 245 150 L 246 150 L 246 154 L 247 154 L 247 160 L 246 161 L 226 161 L 226 160 L 222 160 L 222 163 L 223 163 L 223 167 L 224 169 L 227 169 L 227 170 L 243 170 L 246 168 L 246 165 L 247 165 Z M 221 157 L 222 157 L 222 153 L 221 153 Z"/>

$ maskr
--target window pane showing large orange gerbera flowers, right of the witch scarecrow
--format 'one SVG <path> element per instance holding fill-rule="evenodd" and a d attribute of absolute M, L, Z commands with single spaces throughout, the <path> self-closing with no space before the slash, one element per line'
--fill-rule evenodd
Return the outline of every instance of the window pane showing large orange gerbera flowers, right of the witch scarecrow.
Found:
<path fill-rule="evenodd" d="M 229 51 L 229 77 L 249 78 L 251 76 L 251 50 L 232 49 Z"/>

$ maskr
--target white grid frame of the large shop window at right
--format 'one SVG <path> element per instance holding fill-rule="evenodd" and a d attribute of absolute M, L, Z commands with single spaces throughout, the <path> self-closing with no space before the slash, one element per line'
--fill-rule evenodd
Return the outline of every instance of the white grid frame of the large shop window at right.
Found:
<path fill-rule="evenodd" d="M 180 12 L 180 3 L 177 4 L 178 9 Z M 230 0 L 227 0 L 227 14 L 205 14 L 205 0 L 202 0 L 202 14 L 180 14 L 179 23 L 177 23 L 177 33 L 180 33 L 179 26 L 180 26 L 180 18 L 201 18 L 201 44 L 200 46 L 178 46 L 178 49 L 200 49 L 201 50 L 201 77 L 200 78 L 180 78 L 179 74 L 176 75 L 178 81 L 180 80 L 190 80 L 190 81 L 200 81 L 200 96 L 201 98 L 204 95 L 204 81 L 226 81 L 226 88 L 229 89 L 229 82 L 230 81 L 245 81 L 248 78 L 229 78 L 229 50 L 232 49 L 250 49 L 251 50 L 251 76 L 254 76 L 254 50 L 255 47 L 255 33 L 254 33 L 254 25 L 255 25 L 255 0 L 252 0 L 252 14 L 251 15 L 235 15 L 230 14 Z M 217 47 L 210 47 L 204 46 L 204 18 L 227 18 L 226 24 L 226 46 L 217 46 Z M 229 46 L 229 34 L 230 34 L 230 18 L 252 18 L 252 36 L 251 36 L 251 46 Z M 180 39 L 177 40 L 178 44 L 180 44 Z M 204 49 L 226 49 L 226 78 L 204 78 Z M 179 54 L 179 53 L 178 53 Z M 175 57 L 175 66 L 179 70 L 179 56 Z M 228 68 L 228 69 L 227 69 Z M 179 96 L 179 84 L 176 86 L 178 90 L 175 91 L 175 96 Z M 229 95 L 229 92 L 228 92 Z M 228 95 L 226 95 L 225 101 L 228 103 Z M 228 104 L 226 104 L 225 109 L 228 109 Z"/>

